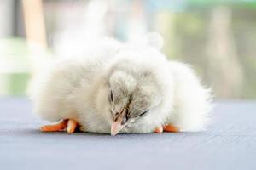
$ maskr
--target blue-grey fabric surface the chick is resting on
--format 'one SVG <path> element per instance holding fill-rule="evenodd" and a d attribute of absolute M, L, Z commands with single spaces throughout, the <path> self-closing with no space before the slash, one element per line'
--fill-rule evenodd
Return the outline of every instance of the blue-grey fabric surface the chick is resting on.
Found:
<path fill-rule="evenodd" d="M 201 133 L 41 133 L 27 99 L 0 99 L 0 169 L 256 169 L 256 103 L 222 101 Z"/>

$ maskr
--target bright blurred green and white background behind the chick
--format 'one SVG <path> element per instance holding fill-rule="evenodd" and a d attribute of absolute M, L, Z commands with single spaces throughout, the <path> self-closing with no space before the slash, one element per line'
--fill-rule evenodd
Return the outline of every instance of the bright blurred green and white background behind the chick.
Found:
<path fill-rule="evenodd" d="M 256 99 L 256 1 L 0 0 L 0 95 L 26 95 L 40 65 L 102 37 L 157 31 L 217 99 Z"/>

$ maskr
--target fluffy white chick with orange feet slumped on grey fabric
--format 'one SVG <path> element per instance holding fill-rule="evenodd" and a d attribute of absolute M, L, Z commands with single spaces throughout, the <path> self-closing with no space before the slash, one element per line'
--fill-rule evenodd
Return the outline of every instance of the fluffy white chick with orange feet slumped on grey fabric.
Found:
<path fill-rule="evenodd" d="M 150 44 L 107 41 L 58 61 L 32 81 L 30 94 L 38 116 L 61 121 L 41 127 L 47 132 L 199 131 L 211 108 L 195 72 Z"/>

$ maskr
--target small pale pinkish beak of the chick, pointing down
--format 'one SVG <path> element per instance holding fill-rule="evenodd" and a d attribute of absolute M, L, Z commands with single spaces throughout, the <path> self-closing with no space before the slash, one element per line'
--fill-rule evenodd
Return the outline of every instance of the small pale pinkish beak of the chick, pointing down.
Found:
<path fill-rule="evenodd" d="M 119 133 L 122 128 L 126 126 L 126 123 L 124 122 L 125 112 L 122 111 L 119 113 L 119 115 L 115 118 L 114 122 L 111 125 L 111 135 L 114 136 L 117 133 Z"/>

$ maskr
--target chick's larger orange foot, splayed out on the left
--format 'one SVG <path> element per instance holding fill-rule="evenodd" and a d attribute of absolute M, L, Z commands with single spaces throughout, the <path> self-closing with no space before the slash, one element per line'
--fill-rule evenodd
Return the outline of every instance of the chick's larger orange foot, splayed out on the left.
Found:
<path fill-rule="evenodd" d="M 73 119 L 65 119 L 52 125 L 45 125 L 40 129 L 42 132 L 57 132 L 67 129 L 67 133 L 74 133 L 77 127 L 79 127 L 79 124 Z"/>

